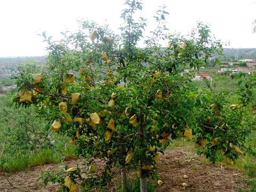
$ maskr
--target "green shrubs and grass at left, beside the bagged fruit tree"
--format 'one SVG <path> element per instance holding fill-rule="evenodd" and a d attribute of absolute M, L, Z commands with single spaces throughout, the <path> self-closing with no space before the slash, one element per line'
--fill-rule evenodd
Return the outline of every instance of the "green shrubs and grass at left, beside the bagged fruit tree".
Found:
<path fill-rule="evenodd" d="M 5 91 L 0 97 L 1 170 L 14 172 L 31 166 L 57 163 L 73 154 L 71 145 L 65 143 L 66 137 L 51 135 L 45 130 L 45 119 L 38 118 L 34 107 L 24 110 L 10 105 L 11 93 Z"/>

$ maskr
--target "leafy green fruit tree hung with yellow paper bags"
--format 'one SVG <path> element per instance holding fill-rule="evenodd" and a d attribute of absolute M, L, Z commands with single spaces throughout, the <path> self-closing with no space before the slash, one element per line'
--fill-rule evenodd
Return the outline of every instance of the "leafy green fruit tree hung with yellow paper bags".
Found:
<path fill-rule="evenodd" d="M 209 27 L 198 22 L 186 37 L 164 34 L 164 15 L 169 13 L 162 7 L 155 16 L 157 28 L 141 49 L 146 19 L 135 20 L 134 15 L 142 4 L 133 0 L 125 5 L 121 34 L 107 25 L 79 21 L 81 29 L 62 33 L 59 42 L 42 34 L 49 44 L 46 66 L 19 67 L 14 104 L 27 110 L 34 106 L 46 118 L 45 132 L 67 134 L 76 155 L 86 159 L 86 177 L 79 166 L 71 167 L 73 171 L 65 167 L 57 174 L 42 173 L 45 184 L 59 182 L 63 191 L 75 191 L 79 180 L 81 188 L 90 191 L 107 185 L 116 174 L 114 167 L 137 170 L 141 181 L 154 179 L 158 154 L 164 153 L 169 136 L 195 140 L 197 153 L 212 162 L 225 155 L 232 164 L 247 150 L 244 142 L 252 121 L 244 121 L 243 113 L 252 101 L 255 77 L 239 79 L 239 103 L 231 107 L 226 95 L 214 94 L 211 86 L 208 91 L 197 89 L 191 74 L 179 72 L 199 69 L 221 53 L 221 43 L 211 38 Z M 94 174 L 97 158 L 105 162 L 100 174 Z"/>

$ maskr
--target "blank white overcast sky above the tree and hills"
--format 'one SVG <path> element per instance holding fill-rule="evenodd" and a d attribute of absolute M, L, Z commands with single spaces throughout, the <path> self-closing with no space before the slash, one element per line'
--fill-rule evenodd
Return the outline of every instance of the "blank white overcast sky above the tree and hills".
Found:
<path fill-rule="evenodd" d="M 0 57 L 46 55 L 42 34 L 60 38 L 60 32 L 77 31 L 76 19 L 89 19 L 103 24 L 105 20 L 115 30 L 125 0 L 1 0 L 0 1 Z M 170 33 L 187 35 L 197 21 L 210 25 L 212 34 L 229 48 L 256 48 L 256 34 L 252 22 L 256 19 L 256 0 L 142 0 L 141 15 L 152 18 L 165 4 L 166 27 Z M 149 29 L 148 29 L 149 30 Z M 227 47 L 227 46 L 226 46 Z"/>

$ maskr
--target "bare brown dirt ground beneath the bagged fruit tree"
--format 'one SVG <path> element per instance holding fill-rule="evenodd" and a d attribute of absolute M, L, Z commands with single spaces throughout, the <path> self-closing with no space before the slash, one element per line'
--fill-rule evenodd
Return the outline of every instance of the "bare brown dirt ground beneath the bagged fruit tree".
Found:
<path fill-rule="evenodd" d="M 82 164 L 81 159 L 71 159 L 63 162 L 69 167 L 76 166 L 77 163 Z M 40 175 L 41 170 L 57 169 L 59 164 L 47 164 L 43 166 L 31 167 L 27 171 L 9 174 L 6 173 L 7 178 L 13 184 L 10 185 L 4 177 L 3 173 L 0 173 L 0 191 L 4 192 L 17 192 L 17 191 L 35 191 L 35 192 L 53 192 L 57 191 L 60 187 L 59 183 L 49 182 L 47 186 L 43 181 L 36 182 Z M 96 166 L 97 167 L 97 166 Z M 164 192 L 178 192 L 178 191 L 238 191 L 239 188 L 246 189 L 243 173 L 232 169 L 227 164 L 222 166 L 216 164 L 207 163 L 202 157 L 198 157 L 196 154 L 176 150 L 166 150 L 165 155 L 160 156 L 160 163 L 158 163 L 158 175 L 159 179 L 163 181 L 161 186 L 156 185 L 156 191 Z M 132 176 L 135 177 L 132 173 Z M 184 179 L 183 175 L 187 175 L 188 178 Z M 106 191 L 116 191 L 119 186 L 120 176 L 114 179 Z M 157 180 L 153 181 L 157 183 Z M 187 183 L 187 187 L 183 187 L 182 183 Z M 78 191 L 81 191 L 78 189 Z"/>

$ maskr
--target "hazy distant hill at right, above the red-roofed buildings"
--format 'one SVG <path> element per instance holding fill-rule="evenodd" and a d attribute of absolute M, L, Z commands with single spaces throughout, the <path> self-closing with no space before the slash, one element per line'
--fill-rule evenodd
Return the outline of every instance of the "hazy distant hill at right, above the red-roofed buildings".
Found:
<path fill-rule="evenodd" d="M 256 48 L 251 49 L 223 49 L 222 52 L 224 55 L 238 55 L 238 57 L 242 56 L 245 59 L 256 59 Z M 253 57 L 253 58 L 252 58 Z"/>

